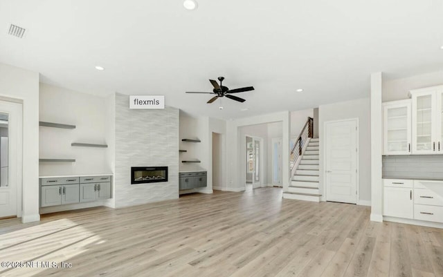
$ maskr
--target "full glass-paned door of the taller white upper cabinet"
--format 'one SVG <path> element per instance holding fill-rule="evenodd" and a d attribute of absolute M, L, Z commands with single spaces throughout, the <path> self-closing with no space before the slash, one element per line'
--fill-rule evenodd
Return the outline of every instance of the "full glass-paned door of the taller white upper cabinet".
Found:
<path fill-rule="evenodd" d="M 413 153 L 435 154 L 435 91 L 413 94 Z"/>

